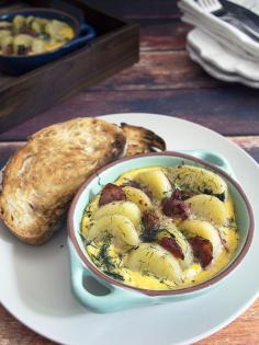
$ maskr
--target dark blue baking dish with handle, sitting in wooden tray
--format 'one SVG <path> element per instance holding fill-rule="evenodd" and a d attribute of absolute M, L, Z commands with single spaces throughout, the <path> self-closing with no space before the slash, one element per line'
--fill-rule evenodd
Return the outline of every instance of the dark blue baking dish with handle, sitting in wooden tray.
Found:
<path fill-rule="evenodd" d="M 74 28 L 75 37 L 64 46 L 47 53 L 29 56 L 0 55 L 0 70 L 8 74 L 22 74 L 40 66 L 52 62 L 59 57 L 85 46 L 97 36 L 95 30 L 91 25 L 80 21 L 76 16 L 56 9 L 38 8 L 12 11 L 0 14 L 0 21 L 11 22 L 18 14 L 24 16 L 33 15 L 37 18 L 56 19 L 66 22 Z"/>

